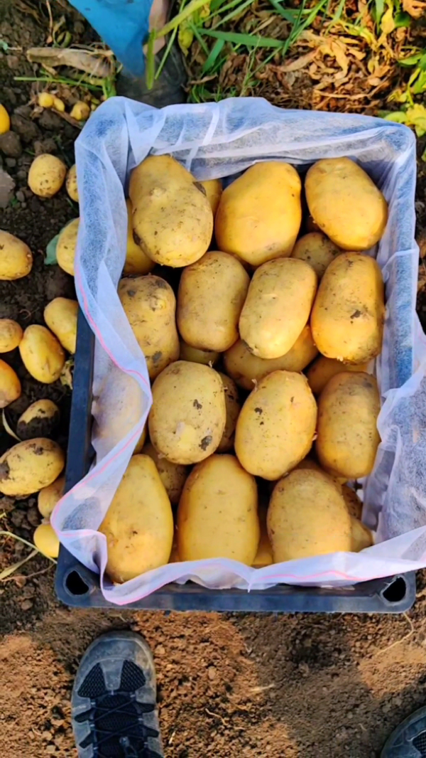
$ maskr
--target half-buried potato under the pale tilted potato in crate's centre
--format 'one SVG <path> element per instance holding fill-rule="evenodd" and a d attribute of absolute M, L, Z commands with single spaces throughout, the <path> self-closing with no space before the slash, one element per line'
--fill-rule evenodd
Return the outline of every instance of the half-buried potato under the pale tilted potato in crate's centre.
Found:
<path fill-rule="evenodd" d="M 264 359 L 253 356 L 243 340 L 238 340 L 235 345 L 226 350 L 223 355 L 225 371 L 244 390 L 251 392 L 257 382 L 272 371 L 303 371 L 315 356 L 318 350 L 313 341 L 309 324 L 297 337 L 293 347 L 281 358 Z"/>

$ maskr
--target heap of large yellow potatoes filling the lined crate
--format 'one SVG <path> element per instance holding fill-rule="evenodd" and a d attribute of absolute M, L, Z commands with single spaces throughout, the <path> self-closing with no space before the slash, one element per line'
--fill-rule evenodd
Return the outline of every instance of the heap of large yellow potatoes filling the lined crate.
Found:
<path fill-rule="evenodd" d="M 161 155 L 134 169 L 126 203 L 118 293 L 153 406 L 149 442 L 144 433 L 100 526 L 110 578 L 372 545 L 346 483 L 371 473 L 380 441 L 368 368 L 384 285 L 366 254 L 387 224 L 379 189 L 334 158 L 309 169 L 304 196 L 280 161 L 222 192 Z M 77 227 L 58 247 L 70 272 Z"/>

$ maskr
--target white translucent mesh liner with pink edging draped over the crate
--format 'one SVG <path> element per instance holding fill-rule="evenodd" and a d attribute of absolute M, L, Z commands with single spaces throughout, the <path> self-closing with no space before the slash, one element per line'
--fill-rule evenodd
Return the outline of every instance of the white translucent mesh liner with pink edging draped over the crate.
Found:
<path fill-rule="evenodd" d="M 377 260 L 386 282 L 387 309 L 384 346 L 375 362 L 382 398 L 381 445 L 375 470 L 364 483 L 364 521 L 376 531 L 373 547 L 257 569 L 229 559 L 174 563 L 117 586 L 105 575 L 107 543 L 97 529 L 151 405 L 145 359 L 117 296 L 126 256 L 129 174 L 148 153 L 173 155 L 198 180 L 232 177 L 266 160 L 288 161 L 303 173 L 319 158 L 346 155 L 384 193 L 390 212 Z M 337 587 L 426 566 L 426 344 L 415 315 L 412 132 L 366 116 L 285 111 L 257 98 L 162 110 L 113 98 L 82 130 L 76 164 L 81 221 L 75 280 L 96 338 L 96 460 L 58 503 L 52 524 L 67 550 L 100 573 L 105 599 L 124 605 L 169 581 L 190 579 L 206 587 L 247 590 L 280 582 Z"/>

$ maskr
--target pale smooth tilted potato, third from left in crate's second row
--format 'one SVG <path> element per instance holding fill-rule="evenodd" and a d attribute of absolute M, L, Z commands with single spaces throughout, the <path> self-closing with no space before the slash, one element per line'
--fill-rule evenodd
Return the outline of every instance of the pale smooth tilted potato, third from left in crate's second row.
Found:
<path fill-rule="evenodd" d="M 316 273 L 304 261 L 277 258 L 253 274 L 241 311 L 241 340 L 260 358 L 280 358 L 300 337 L 316 293 Z"/>

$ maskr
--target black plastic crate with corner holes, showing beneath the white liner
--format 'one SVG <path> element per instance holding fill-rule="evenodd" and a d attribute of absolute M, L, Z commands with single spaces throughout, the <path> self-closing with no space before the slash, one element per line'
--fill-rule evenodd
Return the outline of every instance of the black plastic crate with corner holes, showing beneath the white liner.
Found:
<path fill-rule="evenodd" d="M 95 337 L 79 311 L 77 349 L 73 378 L 70 440 L 66 490 L 89 470 L 92 459 L 92 377 Z M 55 578 L 59 600 L 69 606 L 106 608 L 99 577 L 61 546 Z M 199 584 L 166 584 L 149 597 L 129 603 L 129 609 L 314 612 L 314 613 L 402 613 L 415 601 L 415 573 L 396 575 L 332 589 L 292 587 L 280 584 L 269 590 L 209 590 Z M 121 606 L 120 606 L 121 607 Z"/>

